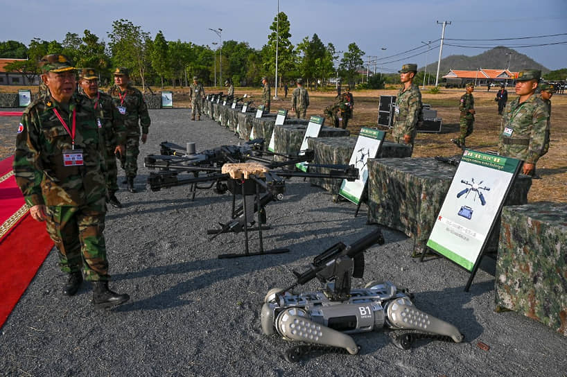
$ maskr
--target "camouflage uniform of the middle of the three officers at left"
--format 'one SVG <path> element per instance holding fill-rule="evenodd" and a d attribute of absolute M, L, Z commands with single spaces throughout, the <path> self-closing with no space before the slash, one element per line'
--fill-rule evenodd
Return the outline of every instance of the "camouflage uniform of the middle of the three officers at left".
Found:
<path fill-rule="evenodd" d="M 112 196 L 118 191 L 118 184 L 116 183 L 118 168 L 116 168 L 114 149 L 118 145 L 125 145 L 126 128 L 118 109 L 114 106 L 111 96 L 99 92 L 97 98 L 91 99 L 91 103 L 93 103 L 97 123 L 98 119 L 101 122 L 101 134 L 105 141 L 106 189 L 108 195 Z"/>

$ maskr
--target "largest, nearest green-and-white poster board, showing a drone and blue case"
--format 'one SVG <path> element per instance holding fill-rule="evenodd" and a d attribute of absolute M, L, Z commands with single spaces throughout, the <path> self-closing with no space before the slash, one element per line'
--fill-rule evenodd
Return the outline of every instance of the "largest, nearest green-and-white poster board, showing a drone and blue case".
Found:
<path fill-rule="evenodd" d="M 520 160 L 464 150 L 427 246 L 472 271 L 479 260 Z"/>

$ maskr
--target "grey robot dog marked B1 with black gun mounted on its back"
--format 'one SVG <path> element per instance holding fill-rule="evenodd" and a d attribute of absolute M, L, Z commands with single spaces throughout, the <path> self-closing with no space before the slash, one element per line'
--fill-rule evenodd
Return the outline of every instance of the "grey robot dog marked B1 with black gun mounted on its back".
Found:
<path fill-rule="evenodd" d="M 374 243 L 384 243 L 380 229 L 348 246 L 337 243 L 316 256 L 305 272 L 294 271 L 297 281 L 292 286 L 268 291 L 260 315 L 263 333 L 311 344 L 288 349 L 286 360 L 298 361 L 317 349 L 355 355 L 360 347 L 347 334 L 384 327 L 413 330 L 392 338 L 401 349 L 420 338 L 462 342 L 464 335 L 455 326 L 415 308 L 412 297 L 390 282 L 371 281 L 365 288 L 351 289 L 351 277 L 363 277 L 363 252 Z M 290 292 L 315 277 L 324 283 L 321 292 Z"/>

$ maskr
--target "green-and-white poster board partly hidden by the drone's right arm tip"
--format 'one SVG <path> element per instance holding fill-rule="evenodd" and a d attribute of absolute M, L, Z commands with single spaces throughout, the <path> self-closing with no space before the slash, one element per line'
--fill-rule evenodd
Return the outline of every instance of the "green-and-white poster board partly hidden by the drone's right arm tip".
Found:
<path fill-rule="evenodd" d="M 347 198 L 354 204 L 360 202 L 368 180 L 367 161 L 368 159 L 376 158 L 385 136 L 385 132 L 374 130 L 373 128 L 362 128 L 360 130 L 349 161 L 349 165 L 354 165 L 355 168 L 358 168 L 358 178 L 353 182 L 343 179 L 339 195 Z"/>

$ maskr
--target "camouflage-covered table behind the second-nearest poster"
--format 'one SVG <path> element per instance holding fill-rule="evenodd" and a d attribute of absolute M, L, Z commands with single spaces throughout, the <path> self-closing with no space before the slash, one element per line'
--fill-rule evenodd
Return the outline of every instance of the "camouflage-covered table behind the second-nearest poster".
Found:
<path fill-rule="evenodd" d="M 310 149 L 315 150 L 313 164 L 347 165 L 356 144 L 356 137 L 317 137 L 308 139 Z M 384 141 L 378 158 L 411 157 L 412 150 L 405 144 Z M 317 173 L 329 173 L 329 168 L 309 168 Z M 310 178 L 311 184 L 320 186 L 333 195 L 338 195 L 342 179 Z"/>

